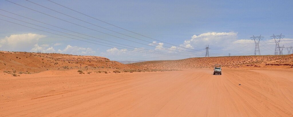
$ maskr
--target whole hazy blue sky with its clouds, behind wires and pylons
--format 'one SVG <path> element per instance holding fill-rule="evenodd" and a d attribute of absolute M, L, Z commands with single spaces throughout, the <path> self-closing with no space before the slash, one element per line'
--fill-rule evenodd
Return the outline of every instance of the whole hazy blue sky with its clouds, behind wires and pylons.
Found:
<path fill-rule="evenodd" d="M 23 8 L 21 6 L 12 4 L 8 1 L 35 9 L 37 11 L 47 13 L 51 16 L 67 20 L 84 27 L 88 27 L 100 32 L 108 33 L 131 41 L 143 43 L 137 44 L 135 42 L 125 41 L 123 39 L 102 34 L 84 27 L 73 25 L 50 16 Z M 40 25 L 53 30 L 66 32 L 71 35 L 77 35 L 88 39 L 97 40 L 92 37 L 76 34 L 66 30 L 58 29 L 49 25 L 38 23 L 20 16 L 7 13 L 0 10 L 0 50 L 5 51 L 29 51 L 36 52 L 40 50 L 46 53 L 64 53 L 64 54 L 79 54 L 79 55 L 95 55 L 104 56 L 111 60 L 163 60 L 163 59 L 184 59 L 189 57 L 202 57 L 205 56 L 205 46 L 209 45 L 211 56 L 226 56 L 228 53 L 232 55 L 252 55 L 254 53 L 254 42 L 250 40 L 252 35 L 259 36 L 260 34 L 265 37 L 260 41 L 260 51 L 262 55 L 274 54 L 275 42 L 270 39 L 272 34 L 285 35 L 281 39 L 280 46 L 293 46 L 293 1 L 272 1 L 272 0 L 259 0 L 259 1 L 56 1 L 59 4 L 72 8 L 81 13 L 85 13 L 94 18 L 98 18 L 105 22 L 123 27 L 125 29 L 137 32 L 142 35 L 163 41 L 156 41 L 136 35 L 117 27 L 113 27 L 106 23 L 88 18 L 79 13 L 73 12 L 64 7 L 53 4 L 52 2 L 42 0 L 29 0 L 62 12 L 69 16 L 79 18 L 81 20 L 93 23 L 95 25 L 114 30 L 124 35 L 105 30 L 103 28 L 81 22 L 79 20 L 64 16 L 60 13 L 43 8 L 25 0 L 1 0 L 0 9 L 9 11 L 21 16 L 32 18 L 44 23 L 54 26 L 62 27 L 68 30 L 79 32 L 92 37 L 109 40 L 112 42 L 130 45 L 133 47 L 143 48 L 151 52 L 165 52 L 168 54 L 176 54 L 176 56 L 156 55 L 139 53 L 133 51 L 126 51 L 123 47 L 121 49 L 112 47 L 104 47 L 96 44 L 81 42 L 78 40 L 69 39 L 66 37 L 53 35 L 47 32 L 30 29 L 28 27 L 19 26 L 16 24 L 8 23 L 3 20 L 8 20 L 14 23 L 19 23 L 29 27 L 34 27 L 40 30 L 54 32 L 51 30 L 37 27 Z M 23 20 L 35 25 L 23 23 L 21 21 L 13 20 L 12 17 L 18 20 Z M 59 35 L 64 35 L 76 39 L 71 35 L 54 32 Z M 142 39 L 127 37 L 125 35 Z M 196 35 L 196 36 L 194 36 Z M 105 42 L 103 40 L 97 40 Z M 90 41 L 92 42 L 92 41 Z M 153 42 L 153 43 L 149 43 Z M 166 44 L 171 43 L 177 45 Z M 98 42 L 95 42 L 98 43 Z M 110 43 L 110 42 L 106 42 Z M 100 44 L 100 43 L 99 43 Z M 113 43 L 111 43 L 113 44 Z M 119 44 L 115 44 L 119 45 Z M 165 47 L 163 47 L 163 46 Z M 122 46 L 122 45 L 120 45 Z M 153 47 L 151 47 L 153 46 Z M 158 48 L 155 48 L 158 47 Z M 170 48 L 171 47 L 171 48 Z M 184 47 L 184 48 L 182 48 Z M 160 49 L 164 48 L 164 49 Z M 176 49 L 174 49 L 176 48 Z M 188 48 L 188 49 L 186 49 Z M 127 49 L 130 50 L 130 49 Z M 187 54 L 199 50 L 203 52 L 199 55 Z M 180 52 L 176 52 L 180 51 Z M 293 50 L 292 50 L 293 51 Z M 182 53 L 187 52 L 187 53 Z M 287 54 L 287 49 L 283 50 Z M 165 57 L 161 57 L 165 56 Z M 156 58 L 158 57 L 158 58 Z M 145 59 L 153 58 L 153 59 Z"/>

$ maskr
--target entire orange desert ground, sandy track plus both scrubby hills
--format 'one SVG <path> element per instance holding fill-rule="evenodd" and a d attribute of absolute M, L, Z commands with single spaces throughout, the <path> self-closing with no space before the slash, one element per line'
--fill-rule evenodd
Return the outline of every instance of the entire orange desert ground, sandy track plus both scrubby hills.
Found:
<path fill-rule="evenodd" d="M 0 116 L 289 117 L 292 66 L 292 54 L 122 64 L 1 51 Z"/>

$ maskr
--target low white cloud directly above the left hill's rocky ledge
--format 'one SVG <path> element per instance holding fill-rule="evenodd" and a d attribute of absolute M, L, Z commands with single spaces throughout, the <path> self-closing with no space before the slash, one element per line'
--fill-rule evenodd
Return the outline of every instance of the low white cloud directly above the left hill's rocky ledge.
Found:
<path fill-rule="evenodd" d="M 66 48 L 63 50 L 58 49 L 57 52 L 62 54 L 74 54 L 74 55 L 93 55 L 96 53 L 96 51 L 93 51 L 93 49 L 91 48 L 77 47 L 77 46 L 71 46 L 71 45 L 67 45 Z"/>

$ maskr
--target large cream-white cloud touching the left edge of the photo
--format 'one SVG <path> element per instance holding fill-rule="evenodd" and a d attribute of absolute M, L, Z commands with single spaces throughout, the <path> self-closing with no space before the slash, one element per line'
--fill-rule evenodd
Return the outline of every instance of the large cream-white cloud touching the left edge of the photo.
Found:
<path fill-rule="evenodd" d="M 38 40 L 46 37 L 33 33 L 6 36 L 0 39 L 0 49 L 6 51 L 21 51 L 34 47 Z"/>

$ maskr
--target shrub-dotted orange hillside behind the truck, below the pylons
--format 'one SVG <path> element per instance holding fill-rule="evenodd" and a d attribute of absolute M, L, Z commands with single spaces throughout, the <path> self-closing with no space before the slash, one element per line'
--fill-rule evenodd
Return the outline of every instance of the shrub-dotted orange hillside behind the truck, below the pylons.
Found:
<path fill-rule="evenodd" d="M 200 57 L 173 61 L 145 61 L 131 65 L 147 68 L 213 68 L 221 64 L 223 68 L 293 68 L 293 54 L 264 56 L 223 56 Z"/>

